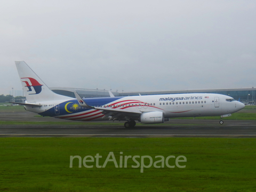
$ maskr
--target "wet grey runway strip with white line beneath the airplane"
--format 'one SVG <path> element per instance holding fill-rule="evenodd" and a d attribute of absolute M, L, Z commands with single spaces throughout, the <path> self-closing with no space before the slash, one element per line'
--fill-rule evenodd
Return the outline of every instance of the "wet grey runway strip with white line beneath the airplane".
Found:
<path fill-rule="evenodd" d="M 177 125 L 177 121 L 181 125 Z M 171 122 L 171 121 L 170 121 Z M 0 137 L 253 137 L 256 138 L 254 121 L 225 121 L 226 125 L 213 124 L 212 120 L 197 120 L 201 125 L 193 126 L 193 120 L 175 120 L 161 126 L 141 126 L 126 129 L 123 126 L 1 126 Z M 188 124 L 188 125 L 186 125 Z"/>

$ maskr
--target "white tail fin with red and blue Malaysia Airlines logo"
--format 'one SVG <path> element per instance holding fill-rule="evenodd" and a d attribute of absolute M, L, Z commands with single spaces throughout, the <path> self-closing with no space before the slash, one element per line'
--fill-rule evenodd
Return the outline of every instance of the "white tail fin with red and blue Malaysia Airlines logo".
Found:
<path fill-rule="evenodd" d="M 39 78 L 35 72 L 24 61 L 15 61 L 23 91 L 27 101 L 51 101 L 51 100 L 66 100 L 73 99 L 57 93 L 47 87 L 47 85 Z"/>

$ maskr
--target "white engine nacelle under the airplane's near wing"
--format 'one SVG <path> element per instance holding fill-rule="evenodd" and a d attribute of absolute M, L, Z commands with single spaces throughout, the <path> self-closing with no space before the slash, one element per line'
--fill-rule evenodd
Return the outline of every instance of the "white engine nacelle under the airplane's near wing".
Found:
<path fill-rule="evenodd" d="M 140 115 L 140 122 L 145 124 L 164 123 L 164 113 L 160 111 L 152 111 Z"/>

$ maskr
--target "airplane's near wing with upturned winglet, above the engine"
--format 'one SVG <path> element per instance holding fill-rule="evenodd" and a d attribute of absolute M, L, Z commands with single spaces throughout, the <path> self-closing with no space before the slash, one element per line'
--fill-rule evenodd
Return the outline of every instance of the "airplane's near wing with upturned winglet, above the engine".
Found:
<path fill-rule="evenodd" d="M 85 108 L 90 108 L 90 109 L 97 109 L 97 110 L 102 110 L 102 114 L 105 114 L 105 116 L 103 116 L 102 118 L 111 116 L 110 120 L 112 119 L 117 119 L 117 118 L 121 118 L 121 117 L 126 117 L 126 116 L 139 116 L 140 114 L 142 114 L 141 111 L 138 110 L 129 110 L 129 109 L 113 109 L 113 108 L 105 108 L 105 107 L 93 107 L 93 106 L 89 106 L 87 105 L 87 103 L 84 102 L 84 100 L 81 98 L 81 96 L 77 93 L 74 92 L 77 101 L 79 102 L 79 105 L 81 107 L 85 107 Z"/>

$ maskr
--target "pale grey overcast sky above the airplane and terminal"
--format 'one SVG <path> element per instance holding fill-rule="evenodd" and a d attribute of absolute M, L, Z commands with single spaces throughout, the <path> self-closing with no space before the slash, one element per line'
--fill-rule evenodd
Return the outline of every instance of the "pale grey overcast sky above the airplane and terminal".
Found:
<path fill-rule="evenodd" d="M 49 86 L 256 87 L 256 1 L 1 1 L 0 94 L 15 60 Z"/>

